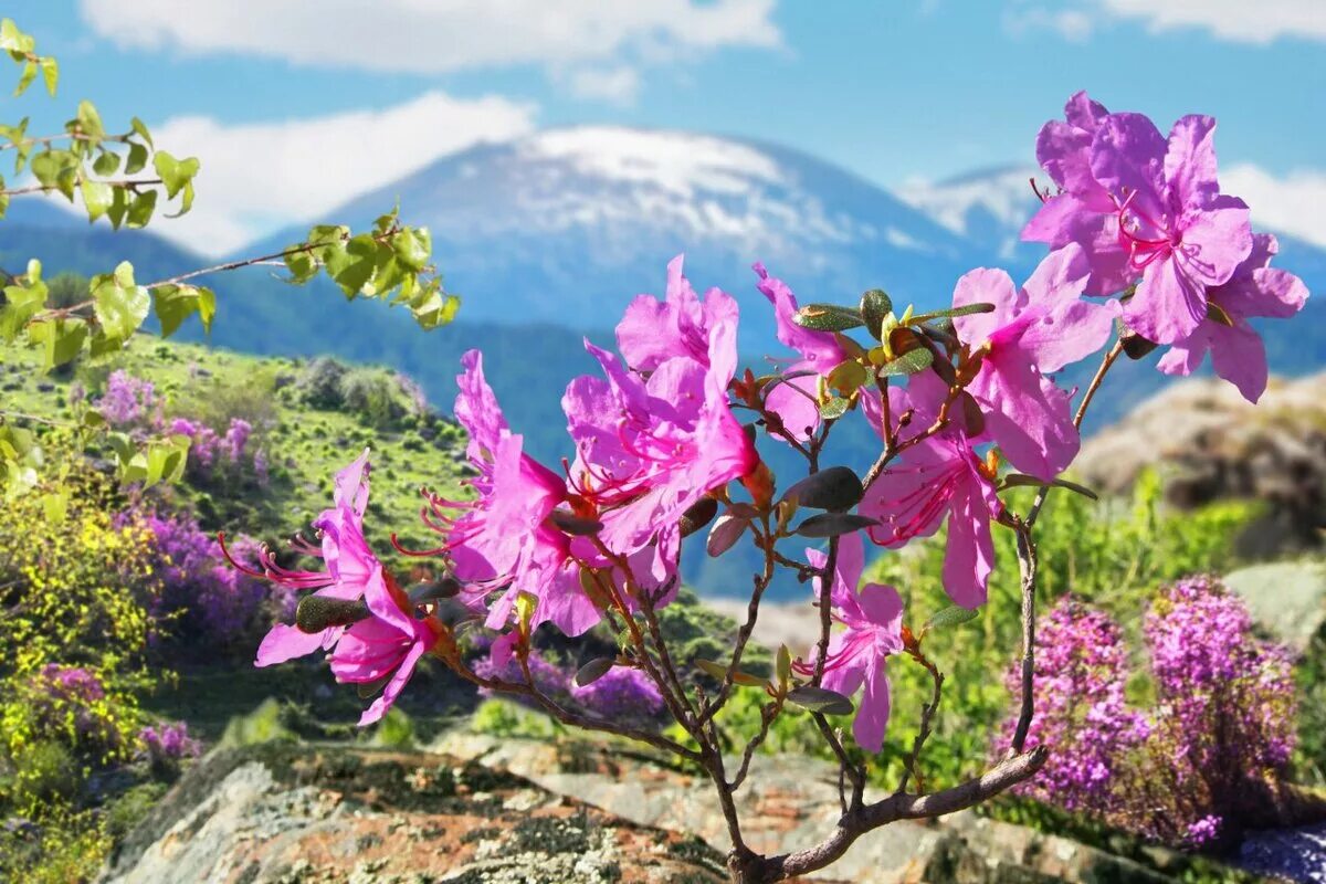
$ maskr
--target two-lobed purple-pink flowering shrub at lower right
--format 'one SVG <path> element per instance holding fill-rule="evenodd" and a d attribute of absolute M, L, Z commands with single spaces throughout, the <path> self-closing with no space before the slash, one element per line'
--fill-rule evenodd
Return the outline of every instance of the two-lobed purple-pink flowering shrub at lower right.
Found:
<path fill-rule="evenodd" d="M 1208 577 L 1162 590 L 1143 637 L 1155 701 L 1138 709 L 1124 700 L 1119 626 L 1071 598 L 1050 611 L 1028 746 L 1052 754 L 1020 793 L 1180 847 L 1236 838 L 1265 819 L 1294 750 L 1289 653 L 1258 639 L 1242 600 Z"/>

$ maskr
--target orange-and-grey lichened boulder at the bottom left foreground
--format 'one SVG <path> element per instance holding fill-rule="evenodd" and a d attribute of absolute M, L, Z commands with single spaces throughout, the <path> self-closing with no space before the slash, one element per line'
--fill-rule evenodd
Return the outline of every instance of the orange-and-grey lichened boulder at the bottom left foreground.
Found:
<path fill-rule="evenodd" d="M 723 859 L 513 774 L 428 753 L 215 751 L 125 842 L 114 884 L 712 884 Z"/>

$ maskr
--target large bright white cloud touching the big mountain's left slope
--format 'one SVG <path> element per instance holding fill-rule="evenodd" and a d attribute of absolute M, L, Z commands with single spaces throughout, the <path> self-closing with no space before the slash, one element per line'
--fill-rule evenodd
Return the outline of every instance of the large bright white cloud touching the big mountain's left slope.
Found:
<path fill-rule="evenodd" d="M 522 135 L 533 117 L 532 106 L 505 98 L 439 91 L 383 110 L 274 123 L 176 117 L 154 126 L 152 138 L 176 156 L 202 160 L 198 201 L 151 229 L 223 254 L 294 221 L 334 221 L 318 216 L 446 154 Z"/>

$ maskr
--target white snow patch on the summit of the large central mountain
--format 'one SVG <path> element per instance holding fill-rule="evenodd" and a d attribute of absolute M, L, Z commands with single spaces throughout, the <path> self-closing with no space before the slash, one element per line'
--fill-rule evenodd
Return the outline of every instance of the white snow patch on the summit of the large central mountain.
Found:
<path fill-rule="evenodd" d="M 683 199 L 697 192 L 741 195 L 754 182 L 778 184 L 784 178 L 778 164 L 753 147 L 690 133 L 579 126 L 538 133 L 521 150 L 569 162 L 583 175 L 652 184 Z"/>

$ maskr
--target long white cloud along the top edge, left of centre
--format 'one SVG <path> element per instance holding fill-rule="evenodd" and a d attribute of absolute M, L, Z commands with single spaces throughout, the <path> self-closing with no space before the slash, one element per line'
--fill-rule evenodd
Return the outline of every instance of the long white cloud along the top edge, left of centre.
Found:
<path fill-rule="evenodd" d="M 81 0 L 125 48 L 243 53 L 297 65 L 446 73 L 777 46 L 774 0 Z M 186 8 L 187 7 L 187 8 Z"/>

